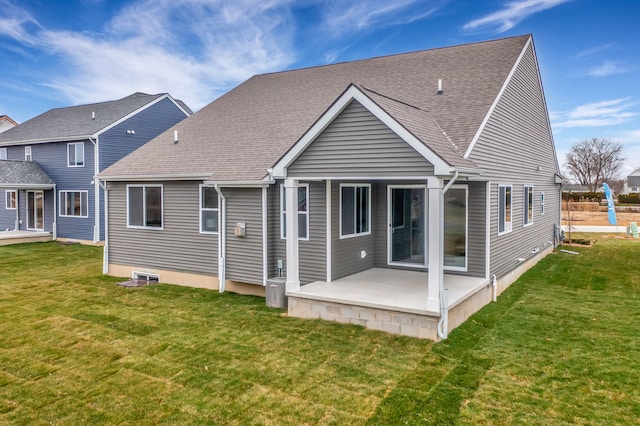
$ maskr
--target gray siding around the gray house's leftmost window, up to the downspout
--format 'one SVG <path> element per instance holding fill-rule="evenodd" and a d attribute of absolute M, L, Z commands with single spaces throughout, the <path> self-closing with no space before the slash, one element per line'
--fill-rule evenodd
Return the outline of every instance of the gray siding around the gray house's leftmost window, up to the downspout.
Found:
<path fill-rule="evenodd" d="M 218 235 L 200 234 L 198 182 L 163 184 L 161 230 L 127 228 L 126 184 L 109 182 L 108 188 L 109 263 L 217 275 Z"/>

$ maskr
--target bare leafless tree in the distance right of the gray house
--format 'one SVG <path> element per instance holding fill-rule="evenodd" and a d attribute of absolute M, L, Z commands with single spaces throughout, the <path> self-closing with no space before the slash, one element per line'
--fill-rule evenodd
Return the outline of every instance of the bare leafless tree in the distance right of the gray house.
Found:
<path fill-rule="evenodd" d="M 622 167 L 622 145 L 604 138 L 591 138 L 575 144 L 567 154 L 567 168 L 580 185 L 596 192 L 603 182 L 615 179 Z"/>

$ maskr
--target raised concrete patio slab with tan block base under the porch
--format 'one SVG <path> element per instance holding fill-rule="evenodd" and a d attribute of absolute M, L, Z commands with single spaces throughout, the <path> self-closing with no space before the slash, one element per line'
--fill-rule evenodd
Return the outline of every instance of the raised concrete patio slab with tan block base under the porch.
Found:
<path fill-rule="evenodd" d="M 427 308 L 428 288 L 426 272 L 372 268 L 332 282 L 316 281 L 286 295 L 291 316 L 432 340 L 440 340 L 439 327 L 455 328 L 493 297 L 486 278 L 444 274 L 446 308 L 434 310 Z"/>

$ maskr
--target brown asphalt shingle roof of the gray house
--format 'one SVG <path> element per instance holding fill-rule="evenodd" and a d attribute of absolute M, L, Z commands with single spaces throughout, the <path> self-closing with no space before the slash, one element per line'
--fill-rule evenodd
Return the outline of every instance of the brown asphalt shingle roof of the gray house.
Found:
<path fill-rule="evenodd" d="M 351 84 L 449 164 L 472 166 L 463 154 L 529 38 L 257 75 L 100 176 L 260 180 Z"/>

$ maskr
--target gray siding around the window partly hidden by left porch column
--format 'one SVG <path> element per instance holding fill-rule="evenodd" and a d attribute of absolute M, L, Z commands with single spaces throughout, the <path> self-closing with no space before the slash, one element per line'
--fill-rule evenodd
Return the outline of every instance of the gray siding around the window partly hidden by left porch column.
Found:
<path fill-rule="evenodd" d="M 301 182 L 307 183 L 307 182 Z M 326 234 L 326 185 L 324 182 L 308 182 L 309 184 L 309 240 L 299 241 L 300 283 L 309 284 L 327 279 L 327 234 Z M 273 185 L 269 192 L 270 226 L 270 260 L 269 276 L 278 275 L 277 261 L 282 259 L 286 276 L 286 244 L 281 238 L 280 223 L 280 191 L 281 182 Z"/>

